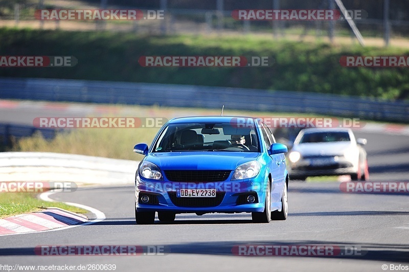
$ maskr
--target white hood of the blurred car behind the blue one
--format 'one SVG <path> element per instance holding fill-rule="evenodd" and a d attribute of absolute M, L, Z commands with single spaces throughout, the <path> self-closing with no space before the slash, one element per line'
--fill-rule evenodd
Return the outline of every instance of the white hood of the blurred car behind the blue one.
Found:
<path fill-rule="evenodd" d="M 351 142 L 305 143 L 294 145 L 291 151 L 298 151 L 303 156 L 336 156 L 343 155 L 345 151 L 352 148 Z"/>

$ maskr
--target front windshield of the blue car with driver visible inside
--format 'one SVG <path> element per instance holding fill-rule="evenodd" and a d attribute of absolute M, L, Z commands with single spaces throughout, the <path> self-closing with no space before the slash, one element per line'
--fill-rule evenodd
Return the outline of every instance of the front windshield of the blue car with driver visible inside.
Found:
<path fill-rule="evenodd" d="M 162 131 L 153 152 L 259 152 L 259 146 L 254 127 L 237 127 L 231 123 L 180 123 L 169 124 Z"/>

